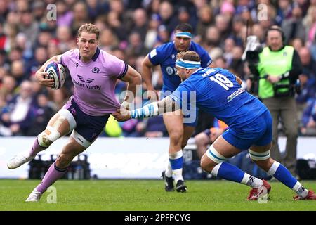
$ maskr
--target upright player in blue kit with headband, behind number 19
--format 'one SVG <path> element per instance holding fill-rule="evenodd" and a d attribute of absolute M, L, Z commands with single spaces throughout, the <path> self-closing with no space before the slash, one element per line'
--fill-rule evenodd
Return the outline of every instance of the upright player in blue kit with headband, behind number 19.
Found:
<path fill-rule="evenodd" d="M 149 91 L 151 99 L 157 97 L 157 91 L 152 86 L 152 67 L 160 65 L 163 75 L 164 85 L 162 87 L 162 97 L 168 96 L 175 91 L 180 84 L 180 77 L 176 75 L 176 55 L 180 51 L 196 51 L 201 58 L 201 66 L 208 67 L 212 60 L 209 54 L 192 41 L 192 27 L 187 23 L 181 23 L 175 29 L 174 41 L 163 44 L 153 49 L 143 60 L 142 76 Z M 156 98 L 157 99 L 157 98 Z M 169 133 L 169 163 L 163 177 L 166 181 L 165 190 L 174 191 L 173 178 L 176 182 L 176 191 L 185 192 L 187 187 L 183 181 L 183 148 L 187 140 L 192 136 L 197 124 L 196 112 L 190 117 L 184 117 L 181 111 L 164 114 L 164 124 Z M 192 120 L 193 118 L 193 120 Z"/>

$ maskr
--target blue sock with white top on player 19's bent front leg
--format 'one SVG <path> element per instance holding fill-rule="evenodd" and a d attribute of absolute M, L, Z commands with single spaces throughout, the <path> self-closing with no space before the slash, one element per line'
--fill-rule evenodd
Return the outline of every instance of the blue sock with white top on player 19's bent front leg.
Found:
<path fill-rule="evenodd" d="M 244 178 L 245 172 L 242 169 L 228 163 L 222 162 L 216 167 L 213 168 L 211 172 L 214 176 L 218 176 L 220 178 L 226 179 L 228 181 L 235 181 L 237 183 L 241 183 Z"/>

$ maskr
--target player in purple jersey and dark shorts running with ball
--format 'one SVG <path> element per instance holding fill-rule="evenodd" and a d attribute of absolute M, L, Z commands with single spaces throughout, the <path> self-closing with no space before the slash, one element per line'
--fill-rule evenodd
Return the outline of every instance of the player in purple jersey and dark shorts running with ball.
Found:
<path fill-rule="evenodd" d="M 100 31 L 93 24 L 82 25 L 78 30 L 78 49 L 53 56 L 37 71 L 39 83 L 51 87 L 53 79 L 47 79 L 44 68 L 51 61 L 58 61 L 68 68 L 74 94 L 61 110 L 48 122 L 46 129 L 37 136 L 32 149 L 16 155 L 8 162 L 9 169 L 20 167 L 32 160 L 37 153 L 66 134 L 70 135 L 60 155 L 49 167 L 44 179 L 34 188 L 26 201 L 39 201 L 41 195 L 66 172 L 72 159 L 82 153 L 103 131 L 111 113 L 120 107 L 114 96 L 117 79 L 128 83 L 127 93 L 136 94 L 136 86 L 141 84 L 140 74 L 115 56 L 98 49 Z M 127 94 L 122 105 L 131 103 Z"/>

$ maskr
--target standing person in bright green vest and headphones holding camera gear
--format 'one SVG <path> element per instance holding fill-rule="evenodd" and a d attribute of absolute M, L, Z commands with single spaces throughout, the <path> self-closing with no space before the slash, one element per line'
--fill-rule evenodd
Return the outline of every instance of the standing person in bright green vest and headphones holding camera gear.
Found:
<path fill-rule="evenodd" d="M 278 26 L 270 27 L 266 33 L 267 46 L 258 53 L 256 65 L 249 68 L 255 77 L 253 81 L 257 82 L 258 97 L 268 107 L 273 118 L 271 157 L 296 174 L 298 121 L 294 95 L 302 65 L 298 53 L 292 46 L 284 45 L 284 39 L 284 33 Z M 277 143 L 279 120 L 287 136 L 283 160 Z"/>

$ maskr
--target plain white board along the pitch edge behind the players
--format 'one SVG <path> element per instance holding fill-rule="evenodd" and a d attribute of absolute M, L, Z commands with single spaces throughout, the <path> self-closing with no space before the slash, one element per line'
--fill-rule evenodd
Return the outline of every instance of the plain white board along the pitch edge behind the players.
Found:
<path fill-rule="evenodd" d="M 8 169 L 6 162 L 14 155 L 32 148 L 33 137 L 0 138 L 0 178 L 27 179 L 29 165 Z M 67 137 L 58 139 L 39 153 L 41 160 L 58 155 Z M 285 138 L 279 138 L 284 150 Z M 297 158 L 316 158 L 316 138 L 299 138 Z M 192 147 L 192 145 L 190 145 Z M 168 138 L 98 138 L 83 154 L 88 156 L 91 177 L 98 179 L 159 179 L 168 161 Z M 192 149 L 192 148 L 190 148 Z M 77 160 L 77 158 L 74 158 Z"/>

